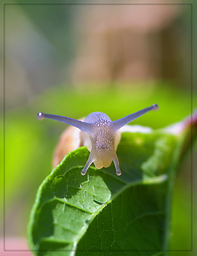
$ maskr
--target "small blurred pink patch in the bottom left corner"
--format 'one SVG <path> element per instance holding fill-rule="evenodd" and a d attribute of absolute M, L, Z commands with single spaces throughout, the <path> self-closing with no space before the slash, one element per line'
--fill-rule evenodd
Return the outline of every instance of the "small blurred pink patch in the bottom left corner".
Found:
<path fill-rule="evenodd" d="M 25 237 L 0 237 L 0 256 L 32 256 Z"/>

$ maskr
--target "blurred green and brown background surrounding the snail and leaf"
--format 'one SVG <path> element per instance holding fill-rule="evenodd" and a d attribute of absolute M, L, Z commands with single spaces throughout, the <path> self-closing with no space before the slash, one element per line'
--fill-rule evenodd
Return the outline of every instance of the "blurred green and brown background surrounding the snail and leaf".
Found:
<path fill-rule="evenodd" d="M 37 121 L 38 112 L 79 119 L 101 111 L 116 120 L 157 103 L 158 112 L 133 124 L 162 128 L 197 107 L 197 76 L 192 92 L 190 4 L 12 3 L 4 6 L 5 219 L 0 230 L 3 236 L 4 225 L 5 249 L 20 250 L 21 243 L 8 241 L 26 236 L 36 191 L 51 172 L 53 150 L 66 127 Z M 0 118 L 2 131 L 3 108 Z M 171 249 L 179 252 L 172 256 L 191 250 L 191 164 L 188 152 L 175 184 Z M 193 171 L 196 164 L 193 157 Z M 3 171 L 0 179 L 2 184 Z"/>

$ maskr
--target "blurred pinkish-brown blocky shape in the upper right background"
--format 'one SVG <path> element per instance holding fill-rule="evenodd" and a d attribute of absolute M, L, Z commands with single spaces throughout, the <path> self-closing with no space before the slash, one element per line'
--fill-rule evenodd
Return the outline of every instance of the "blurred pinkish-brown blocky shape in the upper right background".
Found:
<path fill-rule="evenodd" d="M 176 23 L 184 8 L 132 3 L 82 8 L 76 23 L 83 27 L 85 40 L 73 61 L 73 81 L 151 80 L 178 75 L 180 52 L 172 34 L 180 32 Z"/>

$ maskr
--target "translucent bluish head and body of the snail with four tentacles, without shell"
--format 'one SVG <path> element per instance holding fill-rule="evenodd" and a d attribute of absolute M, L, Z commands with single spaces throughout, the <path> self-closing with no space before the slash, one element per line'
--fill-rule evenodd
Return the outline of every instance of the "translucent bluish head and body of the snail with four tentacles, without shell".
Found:
<path fill-rule="evenodd" d="M 38 120 L 50 118 L 70 124 L 83 131 L 83 143 L 90 151 L 90 155 L 81 171 L 82 175 L 86 174 L 89 166 L 93 162 L 95 167 L 100 169 L 102 167 L 109 167 L 112 161 L 115 165 L 116 174 L 121 175 L 118 157 L 116 155 L 116 149 L 121 139 L 119 129 L 150 110 L 158 110 L 158 105 L 153 104 L 150 107 L 141 109 L 116 121 L 111 121 L 108 115 L 101 112 L 89 114 L 84 121 L 40 112 L 38 113 Z"/>

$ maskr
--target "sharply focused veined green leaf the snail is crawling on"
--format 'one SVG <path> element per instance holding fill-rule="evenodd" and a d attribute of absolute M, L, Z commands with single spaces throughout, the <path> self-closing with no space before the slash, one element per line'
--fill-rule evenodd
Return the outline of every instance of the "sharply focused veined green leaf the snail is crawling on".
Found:
<path fill-rule="evenodd" d="M 100 170 L 91 165 L 83 176 L 89 151 L 70 152 L 38 189 L 30 249 L 38 256 L 163 255 L 183 141 L 184 133 L 173 128 L 122 133 L 121 176 L 113 164 Z"/>

